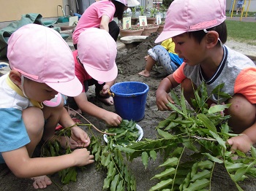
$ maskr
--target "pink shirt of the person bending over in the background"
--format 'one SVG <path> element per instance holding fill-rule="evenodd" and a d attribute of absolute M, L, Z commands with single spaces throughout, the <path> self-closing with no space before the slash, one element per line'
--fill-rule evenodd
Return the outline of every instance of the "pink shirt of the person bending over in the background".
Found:
<path fill-rule="evenodd" d="M 102 0 L 91 4 L 91 6 L 83 12 L 83 15 L 78 21 L 78 25 L 75 27 L 75 31 L 72 34 L 73 44 L 78 44 L 78 36 L 85 31 L 86 28 L 99 28 L 102 15 L 107 15 L 110 17 L 110 21 L 112 21 L 115 12 L 116 7 L 111 1 Z"/>

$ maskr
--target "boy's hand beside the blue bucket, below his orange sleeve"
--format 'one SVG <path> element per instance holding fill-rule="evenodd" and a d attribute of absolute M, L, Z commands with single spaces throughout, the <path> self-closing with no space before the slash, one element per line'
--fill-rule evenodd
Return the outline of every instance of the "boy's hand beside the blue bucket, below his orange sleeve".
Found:
<path fill-rule="evenodd" d="M 165 92 L 165 90 L 157 90 L 156 99 L 157 99 L 157 107 L 160 111 L 170 110 L 170 108 L 166 106 L 168 102 L 174 104 L 174 101 L 172 100 L 172 98 L 170 98 L 170 95 Z"/>

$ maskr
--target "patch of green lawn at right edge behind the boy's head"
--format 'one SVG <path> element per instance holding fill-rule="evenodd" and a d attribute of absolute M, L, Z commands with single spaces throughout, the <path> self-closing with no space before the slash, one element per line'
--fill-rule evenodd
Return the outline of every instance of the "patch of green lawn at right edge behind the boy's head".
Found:
<path fill-rule="evenodd" d="M 227 25 L 227 36 L 229 39 L 256 45 L 256 23 L 236 20 L 225 20 L 225 23 Z"/>

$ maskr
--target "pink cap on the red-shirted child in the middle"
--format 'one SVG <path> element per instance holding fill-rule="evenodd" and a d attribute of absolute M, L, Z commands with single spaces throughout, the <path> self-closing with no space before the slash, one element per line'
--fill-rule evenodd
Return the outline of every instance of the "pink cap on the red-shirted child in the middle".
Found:
<path fill-rule="evenodd" d="M 87 73 L 100 82 L 117 77 L 116 42 L 110 34 L 99 28 L 88 28 L 78 37 L 78 58 Z"/>

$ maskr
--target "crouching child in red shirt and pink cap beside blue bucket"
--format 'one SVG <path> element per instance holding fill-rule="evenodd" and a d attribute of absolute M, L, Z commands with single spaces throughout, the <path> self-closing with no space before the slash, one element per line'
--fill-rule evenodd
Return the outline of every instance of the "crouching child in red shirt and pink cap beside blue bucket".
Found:
<path fill-rule="evenodd" d="M 113 104 L 113 98 L 108 95 L 108 90 L 118 74 L 116 54 L 116 42 L 107 31 L 99 28 L 83 31 L 78 38 L 78 50 L 73 51 L 75 75 L 84 85 L 83 91 L 80 95 L 74 98 L 69 96 L 67 99 L 71 109 L 80 109 L 112 126 L 119 125 L 121 117 L 89 102 L 86 91 L 90 85 L 95 85 L 97 97 L 107 104 Z M 72 114 L 71 111 L 69 113 Z"/>

